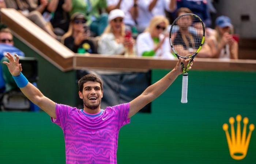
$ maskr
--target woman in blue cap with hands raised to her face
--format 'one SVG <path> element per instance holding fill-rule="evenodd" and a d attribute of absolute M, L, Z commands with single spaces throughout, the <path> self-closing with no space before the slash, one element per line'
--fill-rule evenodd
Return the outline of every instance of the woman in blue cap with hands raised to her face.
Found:
<path fill-rule="evenodd" d="M 215 22 L 216 34 L 208 39 L 212 58 L 238 59 L 238 43 L 233 38 L 233 25 L 227 16 L 219 16 Z"/>

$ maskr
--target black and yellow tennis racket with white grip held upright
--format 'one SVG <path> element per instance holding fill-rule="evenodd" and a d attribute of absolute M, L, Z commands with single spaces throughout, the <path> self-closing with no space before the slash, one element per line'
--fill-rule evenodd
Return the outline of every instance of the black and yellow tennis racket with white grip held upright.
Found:
<path fill-rule="evenodd" d="M 190 58 L 183 69 L 181 103 L 187 103 L 188 68 L 204 44 L 204 24 L 195 14 L 178 16 L 170 28 L 170 44 L 177 58 Z"/>

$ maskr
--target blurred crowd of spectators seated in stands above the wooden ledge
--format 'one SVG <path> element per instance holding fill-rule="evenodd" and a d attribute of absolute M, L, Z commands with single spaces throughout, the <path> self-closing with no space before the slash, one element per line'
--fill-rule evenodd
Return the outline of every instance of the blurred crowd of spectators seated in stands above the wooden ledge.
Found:
<path fill-rule="evenodd" d="M 0 7 L 18 10 L 75 53 L 166 59 L 175 58 L 168 38 L 172 20 L 195 13 L 206 27 L 198 57 L 238 58 L 231 20 L 218 17 L 210 28 L 207 0 L 0 0 Z"/>

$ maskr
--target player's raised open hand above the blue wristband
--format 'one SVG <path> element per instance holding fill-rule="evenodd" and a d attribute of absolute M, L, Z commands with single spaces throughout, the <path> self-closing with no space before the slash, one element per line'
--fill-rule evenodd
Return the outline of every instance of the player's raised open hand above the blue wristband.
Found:
<path fill-rule="evenodd" d="M 14 56 L 16 57 L 16 60 L 15 60 Z M 9 63 L 8 62 L 3 62 L 3 64 L 7 65 L 10 73 L 13 76 L 18 76 L 20 74 L 20 72 L 22 71 L 22 68 L 21 68 L 21 64 L 19 64 L 19 56 L 16 55 L 16 54 L 14 56 L 12 56 L 12 54 L 7 52 L 5 57 L 8 58 Z"/>

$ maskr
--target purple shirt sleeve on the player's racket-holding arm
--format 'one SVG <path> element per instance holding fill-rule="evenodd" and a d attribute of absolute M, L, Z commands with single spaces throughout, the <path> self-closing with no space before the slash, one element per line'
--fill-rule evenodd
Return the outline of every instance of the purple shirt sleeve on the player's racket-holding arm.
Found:
<path fill-rule="evenodd" d="M 122 126 L 130 123 L 130 118 L 128 118 L 128 114 L 129 114 L 129 110 L 130 110 L 129 103 L 113 106 L 113 109 L 117 113 L 118 129 L 120 129 Z"/>

